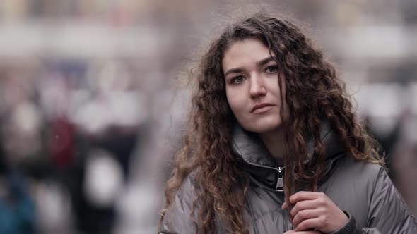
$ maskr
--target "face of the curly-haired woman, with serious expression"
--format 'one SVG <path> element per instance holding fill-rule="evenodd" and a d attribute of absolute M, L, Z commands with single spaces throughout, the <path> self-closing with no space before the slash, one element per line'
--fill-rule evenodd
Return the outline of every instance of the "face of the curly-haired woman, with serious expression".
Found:
<path fill-rule="evenodd" d="M 254 133 L 278 130 L 283 123 L 279 71 L 269 49 L 258 39 L 238 41 L 226 49 L 222 64 L 228 103 L 242 128 Z"/>

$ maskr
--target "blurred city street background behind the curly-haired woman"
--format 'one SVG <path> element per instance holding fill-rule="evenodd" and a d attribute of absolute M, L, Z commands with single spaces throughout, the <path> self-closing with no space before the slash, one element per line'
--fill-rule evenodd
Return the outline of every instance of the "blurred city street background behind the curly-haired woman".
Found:
<path fill-rule="evenodd" d="M 260 2 L 0 1 L 0 234 L 155 233 L 179 71 L 219 15 Z M 417 1 L 262 2 L 336 63 L 417 215 Z"/>

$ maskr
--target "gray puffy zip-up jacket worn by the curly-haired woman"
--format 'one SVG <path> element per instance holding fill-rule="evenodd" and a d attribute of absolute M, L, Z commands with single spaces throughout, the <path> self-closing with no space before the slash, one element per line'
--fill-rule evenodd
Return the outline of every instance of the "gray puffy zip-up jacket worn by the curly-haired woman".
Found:
<path fill-rule="evenodd" d="M 416 219 L 384 168 L 347 156 L 328 123 L 322 125 L 321 134 L 327 147 L 327 160 L 318 192 L 324 192 L 349 217 L 346 226 L 334 233 L 417 234 Z M 307 144 L 307 147 L 311 152 L 312 145 Z M 275 234 L 294 229 L 288 211 L 281 209 L 285 168 L 276 165 L 255 135 L 240 127 L 234 130 L 233 152 L 249 173 L 246 206 L 249 233 Z M 193 198 L 194 184 L 189 176 L 177 191 L 158 232 L 195 233 L 194 223 L 189 218 Z M 220 221 L 216 221 L 216 233 L 226 233 Z"/>

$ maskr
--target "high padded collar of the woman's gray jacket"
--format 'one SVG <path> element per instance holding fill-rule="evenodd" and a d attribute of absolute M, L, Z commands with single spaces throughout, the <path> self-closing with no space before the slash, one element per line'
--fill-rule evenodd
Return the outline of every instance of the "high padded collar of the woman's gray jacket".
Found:
<path fill-rule="evenodd" d="M 339 139 L 331 129 L 328 121 L 322 121 L 320 137 L 326 147 L 325 171 L 319 184 L 324 183 L 333 173 L 337 166 L 337 159 L 345 155 L 344 149 Z M 307 154 L 309 159 L 313 156 L 314 139 L 307 135 L 306 139 Z M 232 133 L 232 152 L 242 164 L 242 168 L 260 182 L 266 183 L 268 187 L 274 187 L 277 183 L 277 172 L 285 168 L 281 159 L 274 159 L 264 145 L 264 142 L 256 133 L 244 130 L 238 123 L 235 123 Z"/>

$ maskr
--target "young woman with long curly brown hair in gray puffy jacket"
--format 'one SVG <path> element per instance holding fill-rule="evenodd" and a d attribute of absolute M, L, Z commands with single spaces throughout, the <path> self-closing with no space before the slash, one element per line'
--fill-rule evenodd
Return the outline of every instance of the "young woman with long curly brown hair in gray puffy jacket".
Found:
<path fill-rule="evenodd" d="M 298 27 L 230 25 L 192 73 L 159 233 L 417 233 L 334 67 Z"/>

